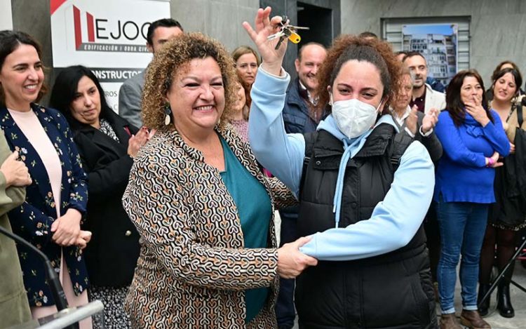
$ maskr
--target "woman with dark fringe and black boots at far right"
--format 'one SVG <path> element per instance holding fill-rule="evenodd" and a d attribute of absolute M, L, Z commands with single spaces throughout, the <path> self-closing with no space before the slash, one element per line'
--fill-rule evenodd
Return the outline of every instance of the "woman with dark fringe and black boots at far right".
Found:
<path fill-rule="evenodd" d="M 495 170 L 494 192 L 497 203 L 490 207 L 488 216 L 489 223 L 486 228 L 483 249 L 480 254 L 480 278 L 478 290 L 478 302 L 490 290 L 490 276 L 495 259 L 495 247 L 497 246 L 497 267 L 502 271 L 509 262 L 517 244 L 517 232 L 526 227 L 526 205 L 518 191 L 521 182 L 526 177 L 516 175 L 515 168 L 524 166 L 522 157 L 525 149 L 515 151 L 515 144 L 519 147 L 523 138 L 522 134 L 516 133 L 518 129 L 526 129 L 525 108 L 516 105 L 519 96 L 519 87 L 522 84 L 520 72 L 513 68 L 502 69 L 494 74 L 495 80 L 492 84 L 494 98 L 490 102 L 490 108 L 494 109 L 502 121 L 508 140 L 511 142 L 511 155 L 504 158 L 504 166 Z M 522 114 L 522 126 L 518 120 L 518 114 Z M 516 152 L 516 153 L 515 153 Z M 515 311 L 510 300 L 509 280 L 513 275 L 513 264 L 506 272 L 504 280 L 499 284 L 497 290 L 497 309 L 499 314 L 505 318 L 513 318 Z M 481 315 L 486 315 L 490 307 L 491 298 L 488 297 L 484 304 L 480 305 Z"/>

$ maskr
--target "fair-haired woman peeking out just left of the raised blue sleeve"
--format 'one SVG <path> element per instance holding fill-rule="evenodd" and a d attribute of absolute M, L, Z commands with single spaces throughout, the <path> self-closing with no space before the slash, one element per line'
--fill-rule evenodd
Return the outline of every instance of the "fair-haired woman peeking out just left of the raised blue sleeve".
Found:
<path fill-rule="evenodd" d="M 257 67 L 261 64 L 261 60 L 259 60 L 256 51 L 249 46 L 236 48 L 232 52 L 232 58 L 234 58 L 234 65 L 236 66 L 239 80 L 241 80 L 241 84 L 245 88 L 247 106 L 250 108 L 252 104 L 250 89 L 252 89 L 252 83 L 256 79 Z"/>

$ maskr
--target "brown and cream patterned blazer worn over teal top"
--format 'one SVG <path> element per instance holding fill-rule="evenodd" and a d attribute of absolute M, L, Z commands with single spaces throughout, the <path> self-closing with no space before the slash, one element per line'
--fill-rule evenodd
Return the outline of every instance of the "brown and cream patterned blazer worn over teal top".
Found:
<path fill-rule="evenodd" d="M 228 125 L 216 127 L 272 203 L 269 249 L 244 249 L 236 205 L 219 170 L 177 131 L 158 132 L 130 172 L 123 206 L 135 223 L 141 253 L 125 309 L 133 328 L 245 328 L 245 293 L 271 286 L 248 328 L 275 328 L 278 254 L 274 203 L 295 203 L 276 179 L 264 177 L 247 143 Z"/>

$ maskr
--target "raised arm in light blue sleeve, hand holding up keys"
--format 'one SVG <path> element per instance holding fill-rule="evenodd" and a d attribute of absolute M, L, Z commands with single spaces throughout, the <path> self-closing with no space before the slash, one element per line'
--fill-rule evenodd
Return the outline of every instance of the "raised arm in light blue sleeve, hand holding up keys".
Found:
<path fill-rule="evenodd" d="M 250 146 L 257 160 L 271 171 L 296 195 L 302 175 L 305 155 L 303 135 L 287 135 L 281 112 L 285 104 L 285 90 L 290 76 L 281 65 L 287 48 L 287 39 L 276 50 L 276 43 L 267 37 L 278 32 L 281 18 L 269 19 L 270 8 L 259 9 L 255 20 L 255 30 L 248 22 L 243 22 L 250 38 L 262 55 L 255 83 L 252 85 L 252 107 L 248 135 Z"/>

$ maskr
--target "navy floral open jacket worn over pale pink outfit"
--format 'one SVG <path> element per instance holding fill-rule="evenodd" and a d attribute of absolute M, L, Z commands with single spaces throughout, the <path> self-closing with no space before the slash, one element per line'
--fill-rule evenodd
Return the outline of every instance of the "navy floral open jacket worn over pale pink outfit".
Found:
<path fill-rule="evenodd" d="M 86 213 L 88 187 L 86 174 L 82 170 L 79 154 L 72 140 L 67 121 L 55 109 L 46 109 L 32 104 L 32 111 L 55 146 L 62 163 L 62 184 L 60 194 L 60 215 L 69 208 Z M 55 201 L 46 168 L 39 154 L 29 143 L 27 137 L 17 126 L 5 107 L 0 108 L 0 128 L 12 151 L 17 150 L 32 177 L 32 184 L 26 189 L 26 199 L 21 206 L 8 213 L 15 234 L 31 242 L 49 257 L 55 271 L 60 269 L 60 250 L 69 269 L 74 292 L 79 295 L 88 287 L 86 265 L 80 248 L 76 246 L 61 248 L 51 240 L 51 224 L 57 217 Z M 46 283 L 46 271 L 42 260 L 23 247 L 18 247 L 20 265 L 24 274 L 24 285 L 31 306 L 54 305 L 53 295 Z"/>

